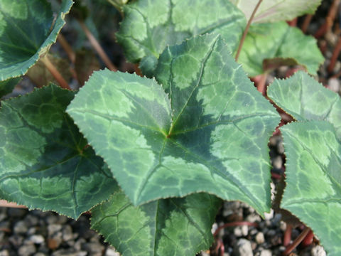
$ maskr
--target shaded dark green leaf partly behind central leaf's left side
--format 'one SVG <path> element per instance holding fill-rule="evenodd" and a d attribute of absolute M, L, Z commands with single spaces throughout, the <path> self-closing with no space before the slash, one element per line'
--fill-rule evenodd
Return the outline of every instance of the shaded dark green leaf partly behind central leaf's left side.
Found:
<path fill-rule="evenodd" d="M 0 198 L 77 218 L 109 198 L 110 171 L 65 113 L 55 85 L 1 102 Z"/>

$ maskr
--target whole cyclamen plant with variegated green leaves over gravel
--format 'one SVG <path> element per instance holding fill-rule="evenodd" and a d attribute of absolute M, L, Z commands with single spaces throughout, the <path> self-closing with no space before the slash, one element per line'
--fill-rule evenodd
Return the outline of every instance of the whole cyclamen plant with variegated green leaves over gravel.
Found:
<path fill-rule="evenodd" d="M 124 14 L 117 41 L 146 76 L 100 70 L 78 92 L 55 78 L 67 89 L 1 100 L 0 198 L 76 219 L 90 210 L 124 256 L 195 255 L 222 200 L 271 210 L 267 144 L 281 117 L 248 75 L 293 64 L 316 75 L 315 39 L 285 21 L 320 0 L 110 2 Z M 71 6 L 53 18 L 45 0 L 0 1 L 1 96 L 39 58 L 55 74 L 47 53 Z M 296 121 L 280 128 L 280 207 L 340 255 L 341 101 L 308 73 L 267 92 Z"/>

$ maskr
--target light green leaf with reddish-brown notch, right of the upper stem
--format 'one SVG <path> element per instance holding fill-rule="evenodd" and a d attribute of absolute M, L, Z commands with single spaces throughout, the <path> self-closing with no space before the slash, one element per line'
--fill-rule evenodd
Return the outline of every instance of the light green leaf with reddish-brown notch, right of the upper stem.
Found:
<path fill-rule="evenodd" d="M 286 22 L 252 25 L 239 63 L 250 77 L 254 77 L 264 73 L 264 60 L 271 59 L 303 65 L 313 75 L 324 60 L 315 38 L 305 36 L 300 29 L 288 26 Z"/>

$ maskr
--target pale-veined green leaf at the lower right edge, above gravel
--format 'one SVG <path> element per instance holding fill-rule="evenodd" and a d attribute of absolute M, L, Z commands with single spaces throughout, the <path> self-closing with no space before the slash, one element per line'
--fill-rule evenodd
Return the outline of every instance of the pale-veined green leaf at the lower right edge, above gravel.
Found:
<path fill-rule="evenodd" d="M 312 228 L 329 256 L 340 255 L 340 137 L 336 137 L 332 124 L 324 121 L 288 124 L 281 132 L 286 149 L 286 189 L 281 208 Z"/>

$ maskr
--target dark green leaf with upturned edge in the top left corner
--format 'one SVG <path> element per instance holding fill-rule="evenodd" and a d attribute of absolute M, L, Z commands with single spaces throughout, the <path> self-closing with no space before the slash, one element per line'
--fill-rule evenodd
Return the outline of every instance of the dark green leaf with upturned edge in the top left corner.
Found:
<path fill-rule="evenodd" d="M 63 0 L 54 21 L 46 0 L 0 1 L 0 80 L 24 75 L 46 53 L 71 6 Z"/>

